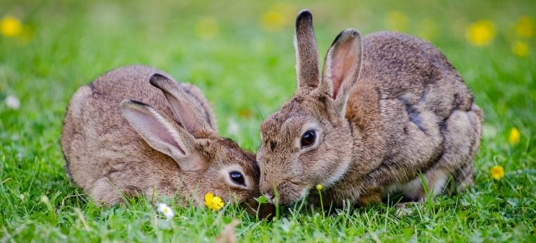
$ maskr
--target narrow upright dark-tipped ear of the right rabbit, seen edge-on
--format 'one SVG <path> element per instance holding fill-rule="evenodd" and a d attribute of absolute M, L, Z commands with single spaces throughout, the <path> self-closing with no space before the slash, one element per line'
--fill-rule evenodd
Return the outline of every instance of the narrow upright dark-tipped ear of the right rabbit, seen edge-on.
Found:
<path fill-rule="evenodd" d="M 312 90 L 320 84 L 318 49 L 313 30 L 313 15 L 309 10 L 301 10 L 296 17 L 296 72 L 298 90 Z"/>

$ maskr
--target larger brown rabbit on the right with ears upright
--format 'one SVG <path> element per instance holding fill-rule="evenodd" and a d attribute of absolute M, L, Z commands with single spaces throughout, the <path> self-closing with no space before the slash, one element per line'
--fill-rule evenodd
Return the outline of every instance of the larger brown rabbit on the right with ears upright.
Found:
<path fill-rule="evenodd" d="M 268 199 L 278 193 L 278 203 L 291 203 L 320 183 L 336 206 L 366 205 L 394 192 L 419 201 L 443 192 L 451 177 L 460 190 L 473 184 L 482 111 L 432 44 L 392 32 L 361 40 L 347 29 L 321 77 L 313 17 L 304 10 L 295 47 L 297 91 L 260 128 L 260 191 Z"/>

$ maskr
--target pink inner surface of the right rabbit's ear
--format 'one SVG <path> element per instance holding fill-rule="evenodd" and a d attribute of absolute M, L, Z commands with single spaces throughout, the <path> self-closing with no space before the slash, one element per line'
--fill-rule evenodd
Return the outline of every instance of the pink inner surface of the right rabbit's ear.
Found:
<path fill-rule="evenodd" d="M 349 55 L 349 51 L 352 51 L 352 42 L 338 43 L 338 47 L 333 50 L 333 56 L 331 59 L 331 76 L 333 78 L 333 99 L 337 99 L 342 81 L 348 76 L 349 72 L 352 72 L 352 55 Z"/>

